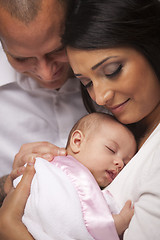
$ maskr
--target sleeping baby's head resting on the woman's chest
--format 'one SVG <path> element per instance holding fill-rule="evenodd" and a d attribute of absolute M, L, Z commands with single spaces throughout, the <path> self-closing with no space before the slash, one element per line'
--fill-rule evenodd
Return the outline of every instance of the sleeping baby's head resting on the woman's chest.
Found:
<path fill-rule="evenodd" d="M 91 171 L 101 188 L 112 182 L 136 150 L 130 130 L 105 113 L 81 118 L 67 143 L 67 153 Z"/>

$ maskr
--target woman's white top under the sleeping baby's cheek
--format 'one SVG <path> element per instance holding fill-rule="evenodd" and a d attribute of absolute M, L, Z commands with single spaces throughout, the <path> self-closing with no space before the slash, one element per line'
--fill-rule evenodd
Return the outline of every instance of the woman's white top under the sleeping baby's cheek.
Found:
<path fill-rule="evenodd" d="M 124 240 L 160 240 L 160 124 L 108 190 L 121 207 L 134 202 Z"/>

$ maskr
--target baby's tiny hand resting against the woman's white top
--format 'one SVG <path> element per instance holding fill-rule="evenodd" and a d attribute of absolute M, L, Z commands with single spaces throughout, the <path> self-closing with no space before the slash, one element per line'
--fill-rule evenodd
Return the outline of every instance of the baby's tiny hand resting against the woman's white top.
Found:
<path fill-rule="evenodd" d="M 132 202 L 128 200 L 119 214 L 113 215 L 114 223 L 118 235 L 121 235 L 129 226 L 129 223 L 134 214 L 134 207 Z"/>

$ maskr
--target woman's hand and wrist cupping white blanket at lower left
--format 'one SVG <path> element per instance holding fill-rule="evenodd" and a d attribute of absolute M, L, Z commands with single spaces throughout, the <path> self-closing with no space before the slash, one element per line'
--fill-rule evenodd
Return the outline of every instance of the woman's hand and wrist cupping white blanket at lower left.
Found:
<path fill-rule="evenodd" d="M 33 240 L 33 237 L 22 223 L 31 181 L 35 173 L 33 159 L 28 159 L 28 161 L 22 180 L 15 189 L 11 189 L 0 208 L 1 240 Z"/>

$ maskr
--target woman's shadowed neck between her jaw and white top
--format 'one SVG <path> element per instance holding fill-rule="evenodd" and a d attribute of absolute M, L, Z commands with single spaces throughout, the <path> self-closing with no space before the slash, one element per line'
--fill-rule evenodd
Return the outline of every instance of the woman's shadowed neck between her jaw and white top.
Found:
<path fill-rule="evenodd" d="M 157 125 L 160 123 L 160 103 L 156 108 L 141 121 L 131 124 L 130 128 L 133 131 L 137 140 L 138 149 L 144 144 L 147 138 L 151 135 Z"/>

